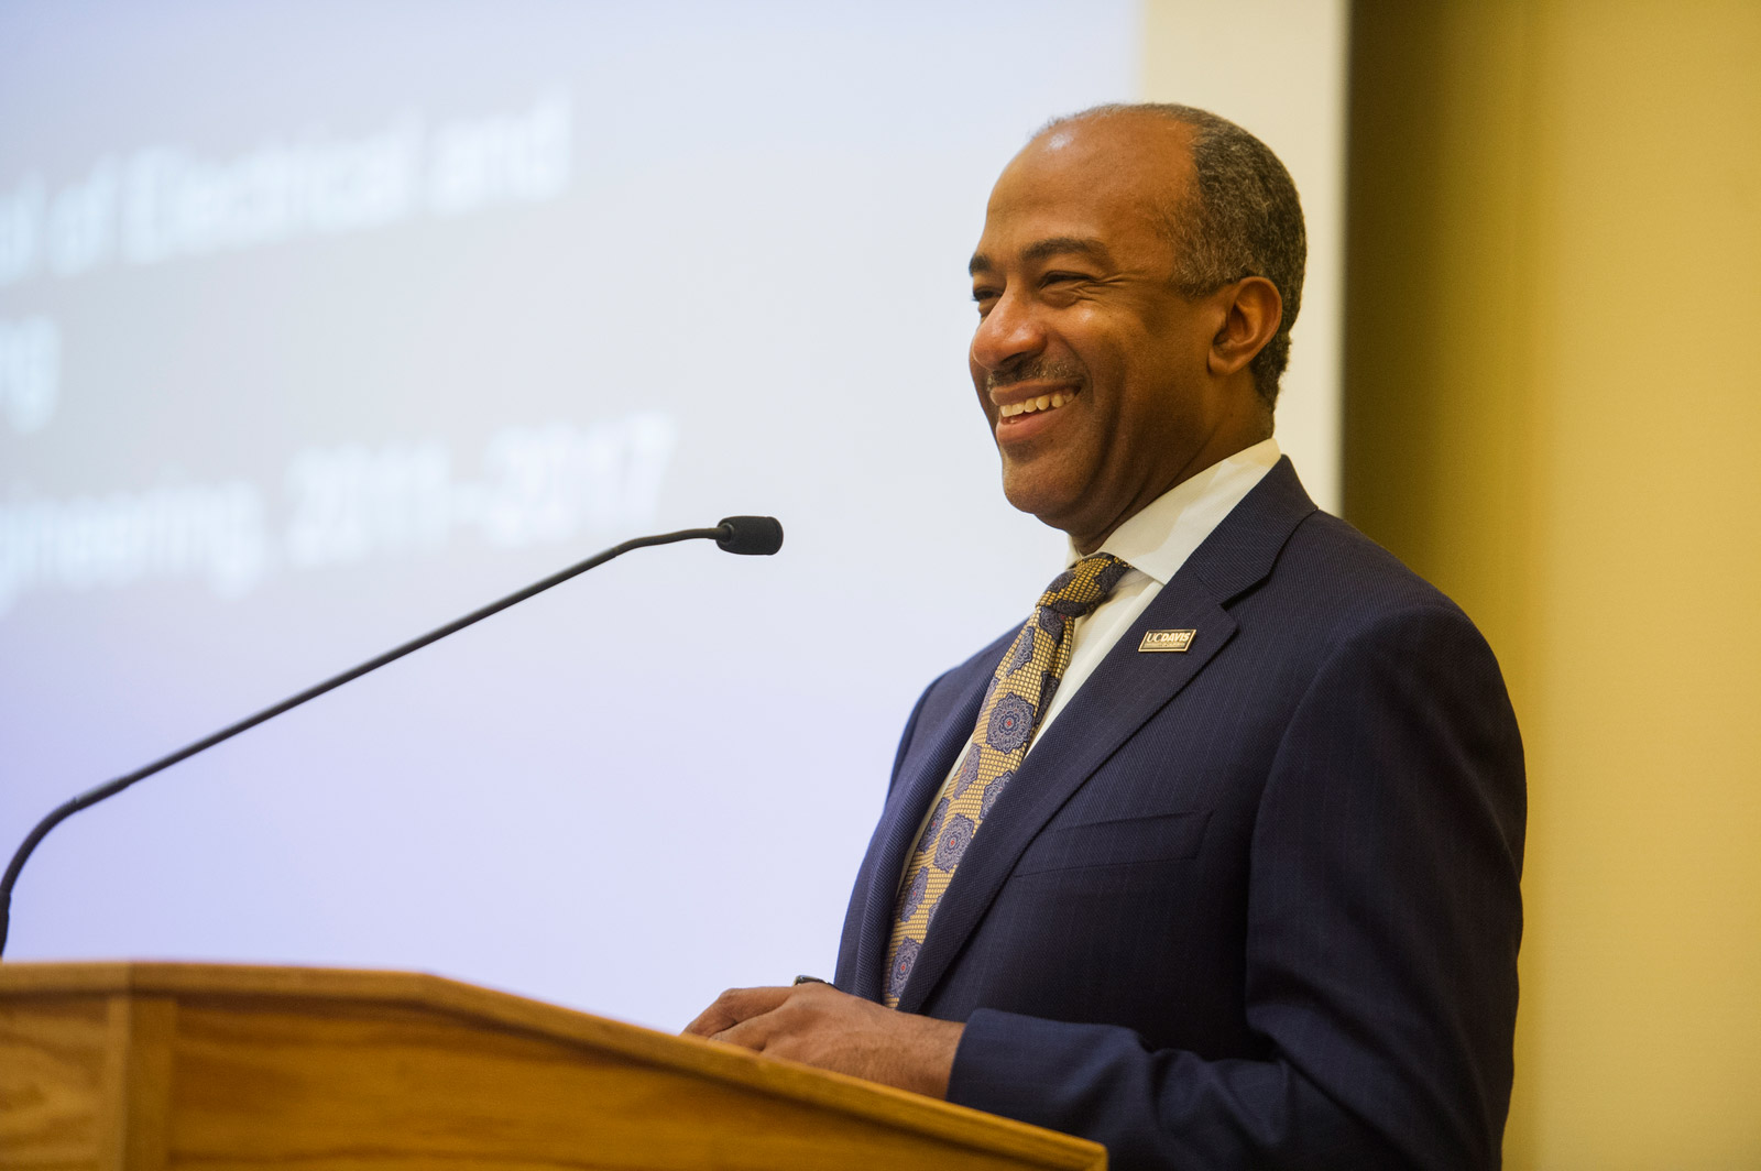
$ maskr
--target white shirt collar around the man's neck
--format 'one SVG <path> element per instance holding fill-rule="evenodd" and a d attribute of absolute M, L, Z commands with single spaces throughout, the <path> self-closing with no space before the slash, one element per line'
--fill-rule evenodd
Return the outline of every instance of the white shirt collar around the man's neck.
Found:
<path fill-rule="evenodd" d="M 1134 571 L 1168 585 L 1192 551 L 1205 544 L 1222 518 L 1254 490 L 1278 461 L 1278 440 L 1264 438 L 1219 460 L 1152 500 L 1108 537 L 1097 553 L 1111 553 Z M 1069 546 L 1065 565 L 1081 560 Z"/>

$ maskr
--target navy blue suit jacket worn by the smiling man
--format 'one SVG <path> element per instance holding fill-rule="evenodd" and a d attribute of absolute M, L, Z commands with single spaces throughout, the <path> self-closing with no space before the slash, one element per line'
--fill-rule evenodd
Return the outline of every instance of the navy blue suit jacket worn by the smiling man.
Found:
<path fill-rule="evenodd" d="M 1197 630 L 1139 653 L 1145 630 Z M 880 998 L 905 851 L 1009 632 L 905 725 L 836 984 Z M 1280 461 L 984 819 L 900 1009 L 949 1099 L 1131 1167 L 1492 1167 L 1511 1092 L 1522 743 L 1467 616 Z"/>

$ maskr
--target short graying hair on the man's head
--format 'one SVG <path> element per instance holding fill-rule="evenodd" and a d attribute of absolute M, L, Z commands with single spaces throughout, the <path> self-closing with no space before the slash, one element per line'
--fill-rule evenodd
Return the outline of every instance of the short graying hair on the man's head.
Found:
<path fill-rule="evenodd" d="M 1175 287 L 1201 298 L 1243 276 L 1264 276 L 1284 299 L 1278 331 L 1254 356 L 1254 389 L 1268 407 L 1278 401 L 1278 379 L 1291 361 L 1291 326 L 1303 301 L 1308 234 L 1296 183 L 1271 148 L 1227 118 L 1171 102 L 1094 106 L 1053 118 L 1053 127 L 1118 114 L 1155 114 L 1192 127 L 1194 185 L 1162 208 L 1164 231 L 1175 245 Z"/>

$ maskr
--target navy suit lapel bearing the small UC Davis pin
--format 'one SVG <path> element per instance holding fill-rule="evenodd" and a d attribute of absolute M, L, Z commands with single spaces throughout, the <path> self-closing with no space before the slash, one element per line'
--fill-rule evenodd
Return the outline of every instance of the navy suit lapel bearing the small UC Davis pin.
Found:
<path fill-rule="evenodd" d="M 1236 622 L 1224 606 L 1271 572 L 1278 549 L 1296 525 L 1314 511 L 1315 505 L 1298 482 L 1291 461 L 1280 460 L 1187 558 L 1180 572 L 1108 652 L 1069 706 L 1046 729 L 1044 740 L 1028 752 L 1020 775 L 1009 784 L 1009 796 L 984 819 L 972 845 L 967 847 L 960 870 L 954 872 L 954 880 L 935 910 L 923 953 L 900 997 L 900 1011 L 916 1013 L 923 1007 L 997 898 L 997 891 L 1002 889 L 1028 842 L 1087 784 L 1088 777 L 1152 715 L 1173 701 L 1234 636 Z M 1143 634 L 1157 629 L 1197 630 L 1197 636 L 1187 653 L 1139 653 Z M 965 717 L 969 731 L 976 718 L 974 704 Z M 951 754 L 932 784 L 940 784 L 949 768 L 953 768 Z M 919 812 L 926 803 L 928 794 L 921 794 Z M 917 822 L 910 824 L 907 835 Z M 903 866 L 903 852 L 893 856 L 889 863 L 891 870 L 879 873 L 891 873 L 896 879 Z M 895 891 L 888 887 L 888 912 L 893 895 Z M 882 935 L 880 951 L 884 949 Z M 870 979 L 880 979 L 882 963 L 884 954 L 870 965 Z"/>

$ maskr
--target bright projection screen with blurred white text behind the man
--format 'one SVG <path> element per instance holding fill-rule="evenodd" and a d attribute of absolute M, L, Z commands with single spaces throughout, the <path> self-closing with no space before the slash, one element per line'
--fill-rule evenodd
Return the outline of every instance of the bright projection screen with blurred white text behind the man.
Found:
<path fill-rule="evenodd" d="M 1139 93 L 1139 28 L 0 11 L 7 852 L 599 548 L 787 528 L 630 555 L 83 814 L 9 958 L 421 968 L 664 1028 L 829 976 L 919 689 L 1062 565 L 965 372 L 984 195 L 1048 116 Z M 1293 373 L 1333 394 L 1307 313 Z"/>

